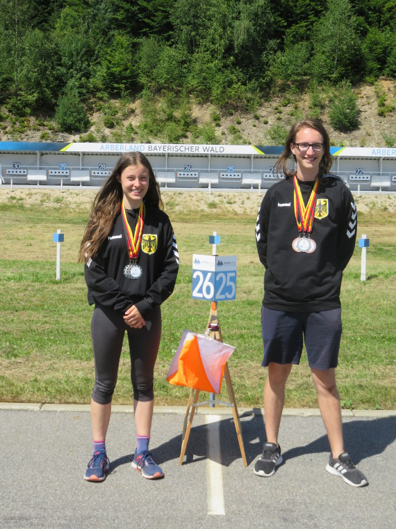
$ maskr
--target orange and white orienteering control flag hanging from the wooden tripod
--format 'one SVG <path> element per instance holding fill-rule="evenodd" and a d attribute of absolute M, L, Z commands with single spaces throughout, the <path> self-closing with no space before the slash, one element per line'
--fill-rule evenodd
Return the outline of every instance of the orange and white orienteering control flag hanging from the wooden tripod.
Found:
<path fill-rule="evenodd" d="M 235 347 L 204 334 L 183 331 L 167 381 L 210 393 L 220 393 L 226 361 Z"/>

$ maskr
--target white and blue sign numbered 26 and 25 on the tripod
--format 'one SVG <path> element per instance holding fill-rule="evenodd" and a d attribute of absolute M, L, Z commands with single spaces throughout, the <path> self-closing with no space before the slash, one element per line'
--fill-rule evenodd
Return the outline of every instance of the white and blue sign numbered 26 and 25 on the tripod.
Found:
<path fill-rule="evenodd" d="M 236 299 L 236 256 L 193 255 L 192 297 L 205 301 Z"/>

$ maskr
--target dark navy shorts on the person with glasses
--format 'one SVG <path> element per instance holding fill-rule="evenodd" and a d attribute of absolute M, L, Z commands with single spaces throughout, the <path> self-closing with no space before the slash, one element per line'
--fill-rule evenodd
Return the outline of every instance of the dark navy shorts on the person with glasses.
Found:
<path fill-rule="evenodd" d="M 299 364 L 303 338 L 310 368 L 328 370 L 337 367 L 343 331 L 341 308 L 297 313 L 262 307 L 261 329 L 263 367 L 270 362 Z"/>

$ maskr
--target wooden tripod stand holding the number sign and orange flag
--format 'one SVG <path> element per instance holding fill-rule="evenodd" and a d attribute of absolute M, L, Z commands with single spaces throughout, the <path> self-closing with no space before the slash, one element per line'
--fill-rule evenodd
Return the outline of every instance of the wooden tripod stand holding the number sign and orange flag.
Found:
<path fill-rule="evenodd" d="M 213 338 L 213 340 L 217 340 L 217 342 L 223 341 L 222 331 L 220 330 L 219 317 L 217 315 L 217 303 L 215 301 L 212 302 L 211 313 L 209 315 L 208 326 L 206 327 L 206 330 L 209 331 L 209 336 L 210 338 Z M 243 464 L 247 466 L 245 447 L 243 445 L 242 434 L 240 432 L 240 420 L 239 420 L 238 408 L 236 406 L 235 395 L 233 393 L 233 387 L 231 383 L 231 375 L 230 375 L 229 367 L 227 363 L 224 367 L 224 379 L 226 381 L 227 391 L 229 394 L 229 402 L 222 402 L 220 400 L 217 400 L 215 402 L 217 402 L 217 404 L 223 404 L 224 406 L 230 406 L 232 408 L 233 420 L 235 423 L 236 435 L 238 437 L 238 443 L 239 443 L 239 448 L 240 448 L 240 455 L 242 456 Z M 182 441 L 181 441 L 181 452 L 180 452 L 180 458 L 179 458 L 179 465 L 183 464 L 183 457 L 185 454 L 185 448 L 187 448 L 188 437 L 190 436 L 192 419 L 194 418 L 195 409 L 197 408 L 197 406 L 202 406 L 203 404 L 208 404 L 211 402 L 211 401 L 198 402 L 199 393 L 200 392 L 198 389 L 192 389 L 190 391 L 190 397 L 188 399 L 187 409 L 185 410 L 185 417 L 183 421 L 183 434 L 182 434 Z M 190 413 L 190 418 L 188 417 L 189 413 Z"/>

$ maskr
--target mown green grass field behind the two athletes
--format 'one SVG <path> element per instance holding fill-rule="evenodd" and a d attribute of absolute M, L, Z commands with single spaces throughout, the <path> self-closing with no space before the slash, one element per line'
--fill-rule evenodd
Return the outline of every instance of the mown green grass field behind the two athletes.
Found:
<path fill-rule="evenodd" d="M 238 201 L 236 197 L 233 200 Z M 208 235 L 217 230 L 222 237 L 220 255 L 238 256 L 237 299 L 218 305 L 224 342 L 236 346 L 229 361 L 233 388 L 239 406 L 261 406 L 263 268 L 256 257 L 256 207 L 249 207 L 253 201 L 249 194 L 243 195 L 247 210 L 241 214 L 231 214 L 231 200 L 226 198 L 224 204 L 224 197 L 214 194 L 206 199 L 206 209 L 202 205 L 185 210 L 182 200 L 185 196 L 170 194 L 166 208 L 178 239 L 181 267 L 174 294 L 163 304 L 156 403 L 187 402 L 188 388 L 170 386 L 166 374 L 183 329 L 206 329 L 210 303 L 191 298 L 192 253 L 210 254 Z M 87 217 L 88 209 L 71 207 L 67 196 L 31 206 L 15 198 L 0 204 L 0 401 L 90 402 L 92 308 L 86 300 L 83 266 L 76 263 Z M 360 280 L 361 250 L 356 248 L 342 289 L 344 330 L 337 374 L 346 408 L 395 409 L 396 240 L 390 230 L 394 221 L 393 212 L 374 206 L 359 216 L 359 234 L 370 237 L 368 281 Z M 60 282 L 52 242 L 56 228 L 65 233 Z M 113 402 L 131 401 L 125 345 Z M 317 406 L 304 355 L 290 375 L 286 406 Z"/>

